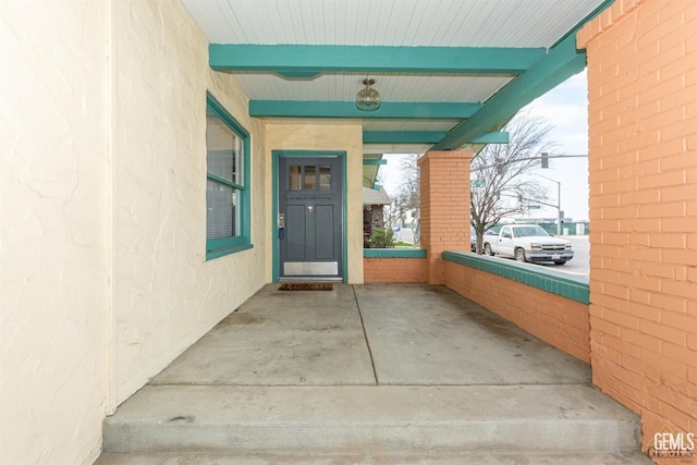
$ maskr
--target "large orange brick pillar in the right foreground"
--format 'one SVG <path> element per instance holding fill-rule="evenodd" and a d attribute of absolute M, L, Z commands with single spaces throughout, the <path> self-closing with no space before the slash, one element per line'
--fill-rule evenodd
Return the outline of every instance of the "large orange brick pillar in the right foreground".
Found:
<path fill-rule="evenodd" d="M 594 382 L 697 433 L 697 2 L 616 0 L 587 48 Z"/>

